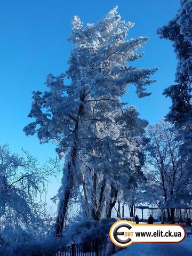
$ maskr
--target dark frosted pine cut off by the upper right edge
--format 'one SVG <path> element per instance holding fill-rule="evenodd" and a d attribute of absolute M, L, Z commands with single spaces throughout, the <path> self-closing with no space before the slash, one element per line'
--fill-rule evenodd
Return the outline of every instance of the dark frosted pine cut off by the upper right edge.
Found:
<path fill-rule="evenodd" d="M 181 0 L 175 17 L 158 29 L 161 38 L 170 39 L 178 59 L 175 85 L 168 87 L 164 94 L 172 100 L 167 118 L 180 130 L 183 145 L 180 148 L 188 175 L 192 175 L 192 1 Z"/>

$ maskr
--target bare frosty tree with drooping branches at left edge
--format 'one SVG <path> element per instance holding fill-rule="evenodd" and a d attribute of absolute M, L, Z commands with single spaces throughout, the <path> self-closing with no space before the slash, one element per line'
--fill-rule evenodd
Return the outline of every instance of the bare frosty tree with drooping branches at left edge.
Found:
<path fill-rule="evenodd" d="M 38 233 L 46 219 L 45 203 L 49 175 L 56 174 L 59 162 L 39 166 L 37 158 L 23 150 L 23 156 L 11 153 L 7 145 L 0 146 L 0 227 L 1 235 L 33 230 Z M 25 231 L 24 231 L 25 230 Z M 34 231 L 35 230 L 35 231 Z M 14 238 L 15 239 L 15 238 Z"/>

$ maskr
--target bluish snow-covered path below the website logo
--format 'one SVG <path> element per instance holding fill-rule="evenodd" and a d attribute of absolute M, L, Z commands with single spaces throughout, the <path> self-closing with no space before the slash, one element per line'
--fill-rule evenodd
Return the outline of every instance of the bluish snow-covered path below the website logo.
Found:
<path fill-rule="evenodd" d="M 178 244 L 132 244 L 114 256 L 192 256 L 192 236 Z"/>

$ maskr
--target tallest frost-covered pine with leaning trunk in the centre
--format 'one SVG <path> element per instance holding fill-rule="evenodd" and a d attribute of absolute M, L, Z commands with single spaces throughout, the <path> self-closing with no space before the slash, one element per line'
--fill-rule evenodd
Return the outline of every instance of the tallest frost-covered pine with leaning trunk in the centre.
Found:
<path fill-rule="evenodd" d="M 148 39 L 126 39 L 133 25 L 121 20 L 117 7 L 95 25 L 88 23 L 85 28 L 75 16 L 69 38 L 74 49 L 65 74 L 70 84 L 64 85 L 65 75 L 49 75 L 46 81 L 49 90 L 34 92 L 29 117 L 35 121 L 24 130 L 27 135 L 37 133 L 41 143 L 56 142 L 58 154 L 65 156 L 55 228 L 58 237 L 62 234 L 69 198 L 78 178 L 79 154 L 85 155 L 92 143 L 101 140 L 98 122 L 107 123 L 108 113 L 123 111 L 120 99 L 127 85 L 134 84 L 140 98 L 150 94 L 145 86 L 154 82 L 150 75 L 156 69 L 130 65 L 143 56 L 137 50 Z"/>

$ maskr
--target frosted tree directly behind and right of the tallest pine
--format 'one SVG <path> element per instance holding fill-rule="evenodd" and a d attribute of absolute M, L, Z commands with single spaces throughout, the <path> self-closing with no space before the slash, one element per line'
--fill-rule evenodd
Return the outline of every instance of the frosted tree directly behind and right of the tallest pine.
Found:
<path fill-rule="evenodd" d="M 108 175 L 109 186 L 107 188 L 108 193 L 106 194 L 107 218 L 110 218 L 111 210 L 115 207 L 117 198 L 119 201 L 118 205 L 122 202 L 124 209 L 124 205 L 129 203 L 128 195 L 130 194 L 131 187 L 137 187 L 140 182 L 145 181 L 141 168 L 145 164 L 143 152 L 148 141 L 145 137 L 147 122 L 138 118 L 138 115 L 138 111 L 131 106 L 126 111 L 125 122 L 122 122 L 123 118 L 121 118 L 120 126 L 117 126 L 118 122 L 115 123 L 117 130 L 121 132 L 114 138 L 117 149 L 115 157 L 112 155 L 110 160 L 112 163 L 116 160 L 118 165 L 114 169 L 110 167 L 110 170 L 113 170 L 113 172 Z M 115 127 L 110 125 L 108 131 L 110 130 L 114 131 Z"/>

